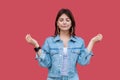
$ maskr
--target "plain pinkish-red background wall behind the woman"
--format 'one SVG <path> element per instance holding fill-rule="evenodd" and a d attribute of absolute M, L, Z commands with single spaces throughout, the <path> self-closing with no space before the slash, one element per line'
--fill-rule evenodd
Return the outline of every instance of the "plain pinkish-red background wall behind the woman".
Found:
<path fill-rule="evenodd" d="M 35 60 L 30 33 L 42 45 L 54 34 L 59 9 L 69 8 L 76 34 L 86 45 L 97 33 L 103 41 L 94 48 L 88 66 L 77 65 L 81 80 L 120 80 L 119 0 L 0 0 L 0 80 L 46 80 L 47 69 Z"/>

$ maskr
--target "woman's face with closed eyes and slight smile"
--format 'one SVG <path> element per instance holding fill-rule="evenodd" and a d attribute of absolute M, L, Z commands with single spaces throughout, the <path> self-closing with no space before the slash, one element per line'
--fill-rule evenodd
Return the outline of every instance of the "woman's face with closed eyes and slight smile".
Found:
<path fill-rule="evenodd" d="M 59 27 L 60 31 L 69 31 L 71 27 L 71 20 L 66 14 L 62 14 L 58 18 L 57 26 Z"/>

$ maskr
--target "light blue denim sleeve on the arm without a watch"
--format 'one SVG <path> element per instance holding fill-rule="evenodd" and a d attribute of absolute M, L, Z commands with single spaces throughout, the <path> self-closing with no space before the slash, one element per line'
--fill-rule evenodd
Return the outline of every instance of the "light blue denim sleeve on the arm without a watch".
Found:
<path fill-rule="evenodd" d="M 78 63 L 82 66 L 89 64 L 91 57 L 93 56 L 92 51 L 89 52 L 87 48 L 85 48 L 84 41 L 82 41 L 82 47 L 80 49 L 80 54 L 78 56 Z"/>

